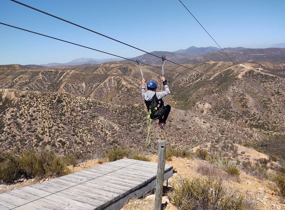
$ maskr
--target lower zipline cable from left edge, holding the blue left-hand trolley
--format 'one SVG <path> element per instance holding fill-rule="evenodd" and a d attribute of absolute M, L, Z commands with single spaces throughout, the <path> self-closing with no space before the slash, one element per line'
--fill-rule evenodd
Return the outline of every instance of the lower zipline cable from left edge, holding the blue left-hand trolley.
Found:
<path fill-rule="evenodd" d="M 12 27 L 12 28 L 17 28 L 17 29 L 20 29 L 20 30 L 22 30 L 22 31 L 30 32 L 30 33 L 33 33 L 33 34 L 37 34 L 37 35 L 45 36 L 45 37 L 48 37 L 48 38 L 56 39 L 56 40 L 59 40 L 59 41 L 62 41 L 62 42 L 66 42 L 66 43 L 69 43 L 69 44 L 73 44 L 73 45 L 77 45 L 77 46 L 80 46 L 80 47 L 84 47 L 84 48 L 87 48 L 87 49 L 95 50 L 95 51 L 98 51 L 98 52 L 103 52 L 103 53 L 105 53 L 105 54 L 113 55 L 113 56 L 116 56 L 116 57 L 118 57 L 118 58 L 123 58 L 123 59 L 129 60 L 129 61 L 132 61 L 132 62 L 136 62 L 136 61 L 134 61 L 134 60 L 132 60 L 132 59 L 129 59 L 129 58 L 124 58 L 124 57 L 119 56 L 119 55 L 115 55 L 115 54 L 112 54 L 112 53 L 104 52 L 104 51 L 102 51 L 102 50 L 97 50 L 97 49 L 90 48 L 90 47 L 87 47 L 87 46 L 84 46 L 84 45 L 80 45 L 80 44 L 76 44 L 76 43 L 73 43 L 73 42 L 69 42 L 69 41 L 66 41 L 66 40 L 63 40 L 63 39 L 55 38 L 55 37 L 52 37 L 52 36 L 49 36 L 49 35 L 40 34 L 40 33 L 38 33 L 38 32 L 33 32 L 33 31 L 30 31 L 30 30 L 27 30 L 27 29 L 24 29 L 24 28 L 19 28 L 19 27 L 17 27 L 17 26 L 9 25 L 9 24 L 2 23 L 2 22 L 0 22 L 0 24 L 6 25 L 6 26 L 9 26 L 9 27 Z M 155 68 L 160 68 L 160 69 L 161 69 L 161 67 L 158 67 L 158 66 L 149 65 L 149 64 L 146 64 L 146 63 L 142 63 L 142 64 L 148 65 L 148 66 L 152 66 L 152 67 L 155 67 Z M 186 75 L 186 76 L 191 76 L 191 75 L 184 74 L 184 73 L 181 73 L 181 72 L 172 71 L 172 70 L 169 70 L 169 69 L 166 69 L 166 68 L 165 68 L 165 70 L 170 71 L 170 72 L 175 72 L 175 73 L 178 73 L 178 74 L 183 74 L 183 75 Z M 202 73 L 202 72 L 201 72 L 201 73 Z"/>

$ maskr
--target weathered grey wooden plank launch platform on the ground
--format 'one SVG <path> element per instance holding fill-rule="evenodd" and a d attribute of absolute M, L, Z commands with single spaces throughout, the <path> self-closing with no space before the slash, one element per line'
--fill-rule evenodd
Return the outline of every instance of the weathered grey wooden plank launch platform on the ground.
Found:
<path fill-rule="evenodd" d="M 121 159 L 0 194 L 0 209 L 120 209 L 155 187 L 157 164 Z M 173 167 L 165 165 L 164 180 Z"/>

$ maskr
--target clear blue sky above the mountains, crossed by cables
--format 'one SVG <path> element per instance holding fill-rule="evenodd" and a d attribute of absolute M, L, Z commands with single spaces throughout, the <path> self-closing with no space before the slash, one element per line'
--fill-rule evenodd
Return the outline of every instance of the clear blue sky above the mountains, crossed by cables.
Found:
<path fill-rule="evenodd" d="M 178 0 L 18 0 L 145 51 L 218 47 Z M 284 0 L 182 0 L 218 44 L 267 48 L 285 43 Z M 0 22 L 123 57 L 144 54 L 9 0 Z M 0 25 L 0 65 L 65 63 L 113 56 Z"/>

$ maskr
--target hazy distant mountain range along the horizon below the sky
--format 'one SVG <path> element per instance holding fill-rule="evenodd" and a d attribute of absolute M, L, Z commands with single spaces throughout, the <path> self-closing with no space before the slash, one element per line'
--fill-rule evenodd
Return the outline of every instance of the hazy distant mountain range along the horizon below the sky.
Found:
<path fill-rule="evenodd" d="M 171 60 L 172 62 L 178 64 L 196 64 L 203 63 L 207 61 L 226 61 L 226 62 L 246 62 L 246 61 L 283 61 L 285 60 L 285 48 L 282 48 L 283 44 L 278 44 L 281 46 L 279 48 L 223 48 L 223 51 L 220 48 L 216 47 L 200 47 L 195 46 L 189 47 L 187 49 L 180 49 L 174 52 L 168 51 L 153 51 L 150 52 L 153 55 L 145 53 L 137 57 L 130 58 L 131 60 L 140 59 L 142 63 L 148 65 L 161 65 L 162 60 L 161 56 L 165 55 L 166 59 Z M 231 60 L 228 58 L 228 56 Z M 120 58 L 109 58 L 109 59 L 95 59 L 95 58 L 77 58 L 68 63 L 49 63 L 42 65 L 25 65 L 29 68 L 44 68 L 44 67 L 60 67 L 60 66 L 75 66 L 75 65 L 98 65 L 104 62 L 115 62 L 115 61 L 126 61 Z M 171 62 L 166 62 L 166 65 L 171 65 Z"/>

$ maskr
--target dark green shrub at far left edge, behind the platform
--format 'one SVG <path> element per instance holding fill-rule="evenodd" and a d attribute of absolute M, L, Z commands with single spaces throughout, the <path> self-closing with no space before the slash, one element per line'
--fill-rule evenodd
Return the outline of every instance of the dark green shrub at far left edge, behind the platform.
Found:
<path fill-rule="evenodd" d="M 20 176 L 20 162 L 15 152 L 2 153 L 0 155 L 0 182 L 12 184 Z"/>

